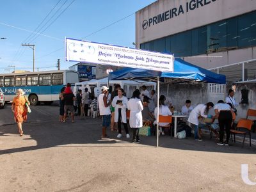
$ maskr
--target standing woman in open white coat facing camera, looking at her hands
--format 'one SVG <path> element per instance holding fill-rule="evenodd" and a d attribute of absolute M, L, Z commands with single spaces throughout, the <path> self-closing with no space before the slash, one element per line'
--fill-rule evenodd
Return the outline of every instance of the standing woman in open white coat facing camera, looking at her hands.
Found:
<path fill-rule="evenodd" d="M 122 88 L 118 90 L 117 94 L 118 95 L 114 97 L 112 101 L 112 106 L 115 108 L 115 122 L 117 122 L 117 127 L 118 127 L 117 138 L 122 137 L 121 122 L 124 124 L 126 138 L 130 138 L 129 130 L 126 122 L 126 109 L 127 109 L 128 99 L 123 95 L 124 89 Z"/>

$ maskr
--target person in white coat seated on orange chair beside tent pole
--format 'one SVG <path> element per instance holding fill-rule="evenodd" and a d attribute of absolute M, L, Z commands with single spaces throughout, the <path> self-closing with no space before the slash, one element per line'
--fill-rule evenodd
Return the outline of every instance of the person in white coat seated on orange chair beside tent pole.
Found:
<path fill-rule="evenodd" d="M 163 115 L 163 116 L 168 116 L 168 115 L 172 115 L 172 111 L 170 111 L 169 107 L 166 106 L 164 104 L 164 101 L 166 100 L 164 95 L 161 95 L 159 98 L 159 115 Z M 157 118 L 157 107 L 155 109 L 155 117 Z M 157 120 L 154 122 L 154 124 L 157 124 Z M 159 123 L 158 126 L 166 126 L 168 125 L 168 123 Z M 162 127 L 160 127 L 160 131 L 159 134 L 163 134 L 164 135 L 164 131 L 162 129 Z"/>

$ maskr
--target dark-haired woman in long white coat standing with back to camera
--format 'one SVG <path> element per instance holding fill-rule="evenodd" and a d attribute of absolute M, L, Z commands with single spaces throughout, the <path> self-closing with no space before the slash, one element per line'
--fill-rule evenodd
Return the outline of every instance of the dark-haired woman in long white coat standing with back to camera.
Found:
<path fill-rule="evenodd" d="M 143 105 L 140 100 L 140 90 L 137 89 L 132 93 L 132 98 L 128 101 L 127 108 L 130 110 L 129 124 L 133 130 L 132 142 L 138 143 L 140 142 L 139 128 L 143 126 L 141 113 Z"/>

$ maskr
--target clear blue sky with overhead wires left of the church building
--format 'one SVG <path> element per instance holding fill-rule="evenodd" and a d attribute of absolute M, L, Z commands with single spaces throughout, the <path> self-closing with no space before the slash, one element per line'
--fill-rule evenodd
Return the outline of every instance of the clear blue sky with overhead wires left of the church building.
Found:
<path fill-rule="evenodd" d="M 55 70 L 65 61 L 65 37 L 134 47 L 135 13 L 156 0 L 8 0 L 0 6 L 0 73 Z M 1 39 L 6 38 L 6 39 Z"/>

